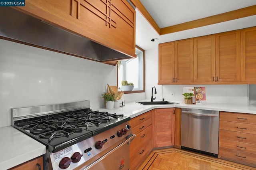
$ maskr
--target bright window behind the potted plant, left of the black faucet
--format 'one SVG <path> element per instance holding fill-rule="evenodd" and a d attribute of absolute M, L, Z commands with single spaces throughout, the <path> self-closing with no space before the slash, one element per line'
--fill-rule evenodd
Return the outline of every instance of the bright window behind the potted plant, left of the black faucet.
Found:
<path fill-rule="evenodd" d="M 123 80 L 134 84 L 132 91 L 124 93 L 144 92 L 144 50 L 136 46 L 135 53 L 136 58 L 121 60 L 118 68 L 118 89 L 122 90 L 121 82 Z"/>

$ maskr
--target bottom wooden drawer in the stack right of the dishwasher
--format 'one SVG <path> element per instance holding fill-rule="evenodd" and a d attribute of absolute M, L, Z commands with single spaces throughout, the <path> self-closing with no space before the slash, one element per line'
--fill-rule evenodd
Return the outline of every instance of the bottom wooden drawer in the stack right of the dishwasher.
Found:
<path fill-rule="evenodd" d="M 246 152 L 240 152 L 237 150 L 219 148 L 219 155 L 226 158 L 231 158 L 233 160 L 242 162 L 248 162 L 251 164 L 255 164 L 256 154 L 250 154 Z"/>

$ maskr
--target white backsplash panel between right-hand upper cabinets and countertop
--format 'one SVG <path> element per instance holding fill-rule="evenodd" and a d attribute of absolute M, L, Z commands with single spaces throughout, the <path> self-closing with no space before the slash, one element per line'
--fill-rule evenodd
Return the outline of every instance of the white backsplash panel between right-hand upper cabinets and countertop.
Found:
<path fill-rule="evenodd" d="M 183 87 L 206 87 L 206 101 L 202 103 L 248 104 L 248 85 L 163 85 L 162 96 L 166 101 L 184 101 Z"/>

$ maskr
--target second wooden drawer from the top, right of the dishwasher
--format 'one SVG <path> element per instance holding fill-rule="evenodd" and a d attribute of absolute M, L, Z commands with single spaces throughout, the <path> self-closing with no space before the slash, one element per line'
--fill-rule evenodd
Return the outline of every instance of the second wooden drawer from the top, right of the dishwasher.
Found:
<path fill-rule="evenodd" d="M 220 121 L 220 129 L 256 134 L 256 125 L 246 123 Z"/>

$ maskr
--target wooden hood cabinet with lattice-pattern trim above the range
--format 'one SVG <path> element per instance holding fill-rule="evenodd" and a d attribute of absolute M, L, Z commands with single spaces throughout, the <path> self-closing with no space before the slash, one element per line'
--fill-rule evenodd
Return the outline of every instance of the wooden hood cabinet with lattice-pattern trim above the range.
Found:
<path fill-rule="evenodd" d="M 127 0 L 26 0 L 15 9 L 136 57 L 135 10 Z"/>

